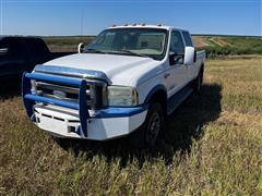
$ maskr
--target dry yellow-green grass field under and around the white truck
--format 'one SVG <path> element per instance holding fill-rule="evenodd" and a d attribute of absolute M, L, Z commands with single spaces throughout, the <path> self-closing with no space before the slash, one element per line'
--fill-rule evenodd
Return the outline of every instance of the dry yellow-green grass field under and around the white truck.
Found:
<path fill-rule="evenodd" d="M 2 86 L 0 195 L 262 195 L 261 56 L 207 60 L 201 95 L 152 151 L 124 139 L 66 151 Z"/>

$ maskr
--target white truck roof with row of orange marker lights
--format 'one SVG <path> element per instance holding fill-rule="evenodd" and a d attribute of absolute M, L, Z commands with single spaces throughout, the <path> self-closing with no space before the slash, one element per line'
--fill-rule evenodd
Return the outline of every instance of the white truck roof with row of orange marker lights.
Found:
<path fill-rule="evenodd" d="M 129 24 L 129 25 L 112 25 L 110 27 L 108 27 L 109 29 L 110 28 L 157 28 L 157 29 L 167 29 L 167 30 L 170 30 L 170 29 L 178 29 L 178 30 L 186 30 L 186 29 L 180 29 L 180 28 L 176 28 L 174 26 L 165 26 L 165 25 L 146 25 L 146 24 Z M 188 30 L 186 30 L 188 32 Z"/>

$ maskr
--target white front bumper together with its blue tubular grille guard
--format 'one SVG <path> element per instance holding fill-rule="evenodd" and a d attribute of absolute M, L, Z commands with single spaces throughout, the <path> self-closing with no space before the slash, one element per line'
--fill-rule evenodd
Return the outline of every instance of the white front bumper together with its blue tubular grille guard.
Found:
<path fill-rule="evenodd" d="M 36 95 L 31 81 L 50 82 L 79 88 L 79 102 Z M 24 73 L 23 101 L 29 119 L 38 127 L 60 137 L 105 140 L 127 135 L 142 125 L 147 106 L 88 110 L 86 86 L 92 81 L 46 74 Z"/>

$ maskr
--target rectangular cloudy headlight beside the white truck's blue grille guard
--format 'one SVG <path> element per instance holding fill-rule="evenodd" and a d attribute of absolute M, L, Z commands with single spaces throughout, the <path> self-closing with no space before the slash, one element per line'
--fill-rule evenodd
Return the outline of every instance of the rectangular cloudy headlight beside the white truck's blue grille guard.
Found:
<path fill-rule="evenodd" d="M 138 105 L 138 94 L 133 87 L 108 86 L 108 106 L 130 107 Z"/>

